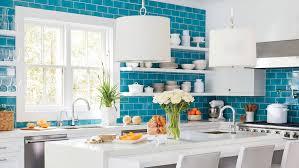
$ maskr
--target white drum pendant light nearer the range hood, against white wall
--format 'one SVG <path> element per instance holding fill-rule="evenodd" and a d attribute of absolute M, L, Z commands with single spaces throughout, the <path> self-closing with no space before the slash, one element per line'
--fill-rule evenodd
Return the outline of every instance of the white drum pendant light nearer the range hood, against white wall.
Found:
<path fill-rule="evenodd" d="M 256 39 L 250 29 L 234 27 L 210 32 L 209 67 L 255 67 Z"/>

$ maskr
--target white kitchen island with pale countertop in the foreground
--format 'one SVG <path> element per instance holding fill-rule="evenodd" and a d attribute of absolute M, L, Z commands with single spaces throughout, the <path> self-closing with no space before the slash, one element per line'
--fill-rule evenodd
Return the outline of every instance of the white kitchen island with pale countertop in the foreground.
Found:
<path fill-rule="evenodd" d="M 46 168 L 155 167 L 175 164 L 180 154 L 220 151 L 221 157 L 226 158 L 237 156 L 242 146 L 259 145 L 275 145 L 275 150 L 283 150 L 287 141 L 263 133 L 214 134 L 214 131 L 183 130 L 182 140 L 167 140 L 165 144 L 86 144 L 85 139 L 51 142 L 46 144 Z"/>

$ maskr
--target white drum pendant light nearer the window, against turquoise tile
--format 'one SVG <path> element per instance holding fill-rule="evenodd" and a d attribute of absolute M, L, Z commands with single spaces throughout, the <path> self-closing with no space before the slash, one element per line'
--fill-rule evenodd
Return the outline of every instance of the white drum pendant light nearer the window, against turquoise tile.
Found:
<path fill-rule="evenodd" d="M 146 16 L 144 0 L 140 16 L 116 19 L 115 59 L 118 62 L 170 62 L 170 20 Z"/>

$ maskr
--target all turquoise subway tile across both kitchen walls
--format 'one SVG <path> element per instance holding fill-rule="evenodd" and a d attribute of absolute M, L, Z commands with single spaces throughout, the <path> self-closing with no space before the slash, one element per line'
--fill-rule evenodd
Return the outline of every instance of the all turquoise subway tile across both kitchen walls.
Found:
<path fill-rule="evenodd" d="M 0 12 L 3 8 L 9 9 L 10 21 L 15 13 L 15 6 L 25 6 L 40 8 L 45 10 L 55 10 L 68 13 L 92 15 L 98 17 L 117 18 L 127 15 L 138 15 L 141 7 L 141 0 L 0 0 Z M 182 33 L 182 30 L 190 30 L 191 36 L 205 36 L 206 34 L 206 11 L 196 8 L 189 8 L 173 4 L 161 3 L 147 0 L 146 7 L 149 15 L 160 15 L 169 17 L 171 20 L 171 32 Z M 158 37 L 157 37 L 158 38 Z M 0 37 L 1 46 L 14 47 L 15 39 L 12 37 Z M 204 45 L 202 46 L 204 47 Z M 172 51 L 172 57 L 176 58 L 179 64 L 191 63 L 195 59 L 204 59 L 204 53 Z M 157 67 L 158 65 L 154 65 Z M 0 67 L 0 72 L 2 71 Z M 5 68 L 4 68 L 5 69 Z M 256 103 L 259 110 L 256 113 L 256 120 L 266 120 L 266 108 L 270 103 L 289 103 L 290 112 L 288 119 L 291 122 L 299 122 L 298 100 L 290 98 L 290 92 L 277 93 L 277 89 L 289 89 L 292 73 L 298 68 L 268 69 L 266 73 L 266 96 L 264 97 L 196 97 L 191 107 L 199 107 L 204 118 L 208 118 L 209 101 L 222 99 L 226 104 L 230 104 L 237 109 L 238 116 L 244 114 L 243 106 L 246 103 Z M 167 80 L 195 81 L 204 79 L 204 75 L 197 74 L 176 74 L 176 73 L 147 73 L 147 72 L 121 72 L 121 91 L 128 91 L 128 84 L 138 82 L 144 85 L 151 85 L 155 82 L 165 82 Z M 16 109 L 16 99 L 12 97 L 0 97 L 0 104 L 6 104 L 12 110 Z M 143 121 L 147 121 L 152 115 L 164 114 L 157 104 L 152 103 L 152 97 L 121 97 L 121 116 L 140 115 Z M 229 111 L 225 112 L 226 117 L 231 117 Z M 182 114 L 182 119 L 186 120 L 186 113 Z M 80 121 L 81 124 L 99 123 L 96 120 Z M 121 119 L 119 119 L 121 122 Z M 55 123 L 53 123 L 55 124 Z M 16 123 L 17 127 L 24 127 L 26 123 Z"/>

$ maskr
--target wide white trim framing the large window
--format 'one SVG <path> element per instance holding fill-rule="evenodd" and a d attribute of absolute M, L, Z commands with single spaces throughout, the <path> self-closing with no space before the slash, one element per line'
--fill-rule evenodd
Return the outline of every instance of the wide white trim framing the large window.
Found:
<path fill-rule="evenodd" d="M 79 14 L 71 14 L 71 13 L 64 13 L 64 12 L 57 12 L 57 11 L 47 11 L 42 9 L 34 9 L 34 8 L 27 8 L 27 7 L 20 7 L 16 6 L 16 15 L 15 15 L 15 22 L 17 28 L 17 37 L 16 37 L 16 50 L 18 51 L 17 57 L 17 66 L 16 66 L 16 78 L 17 78 L 17 121 L 24 122 L 24 121 L 37 121 L 39 119 L 47 119 L 51 121 L 57 120 L 57 116 L 59 115 L 60 111 L 64 110 L 71 114 L 71 109 L 65 109 L 65 107 L 57 106 L 49 106 L 49 111 L 40 111 L 40 112 L 26 112 L 25 111 L 25 88 L 24 88 L 24 21 L 25 19 L 41 19 L 41 20 L 55 20 L 58 22 L 67 22 L 75 24 L 76 26 L 80 25 L 88 25 L 96 27 L 104 27 L 109 28 L 111 33 L 110 35 L 113 37 L 113 40 L 110 40 L 109 45 L 109 55 L 110 55 L 110 64 L 111 64 L 111 76 L 113 79 L 113 83 L 120 86 L 120 68 L 119 63 L 113 61 L 113 46 L 115 41 L 115 20 L 109 18 L 101 18 L 101 17 L 94 17 L 94 16 L 87 16 L 87 15 L 79 15 Z M 51 22 L 50 22 L 51 23 Z M 69 36 L 68 36 L 69 37 Z M 66 39 L 70 40 L 70 39 Z M 71 70 L 71 69 L 70 69 Z M 65 80 L 67 82 L 67 80 Z M 119 87 L 118 87 L 119 88 Z M 71 90 L 69 90 L 71 91 Z M 65 104 L 71 105 L 72 100 L 66 100 Z M 119 112 L 119 103 L 117 104 L 118 109 L 118 116 L 120 115 Z M 37 109 L 38 110 L 38 109 Z M 79 110 L 77 112 L 79 119 L 100 119 L 101 113 L 99 111 L 93 112 L 82 112 Z"/>

